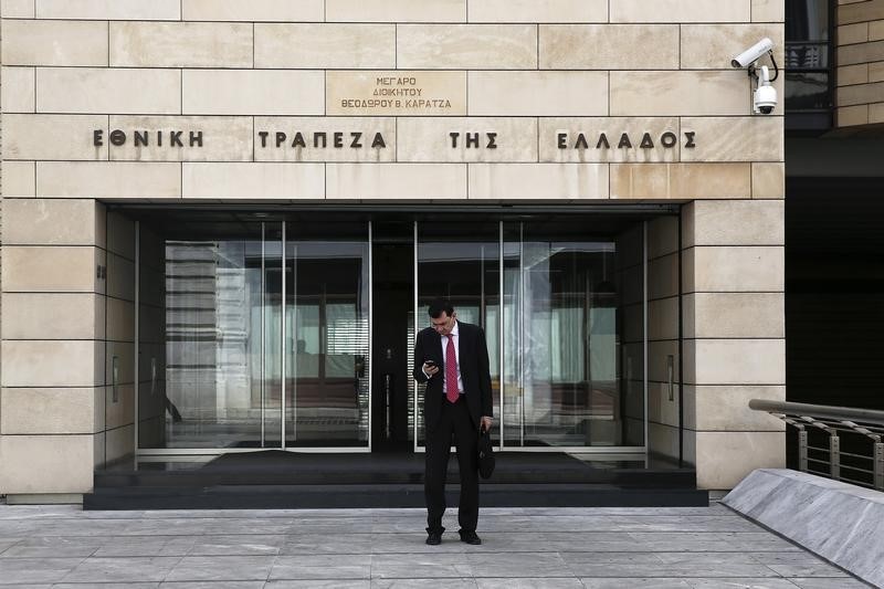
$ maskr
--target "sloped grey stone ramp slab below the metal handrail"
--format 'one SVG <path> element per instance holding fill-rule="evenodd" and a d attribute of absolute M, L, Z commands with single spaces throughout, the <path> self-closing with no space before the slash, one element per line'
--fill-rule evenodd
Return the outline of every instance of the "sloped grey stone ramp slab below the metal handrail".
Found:
<path fill-rule="evenodd" d="M 884 493 L 797 471 L 759 469 L 723 503 L 884 587 Z"/>

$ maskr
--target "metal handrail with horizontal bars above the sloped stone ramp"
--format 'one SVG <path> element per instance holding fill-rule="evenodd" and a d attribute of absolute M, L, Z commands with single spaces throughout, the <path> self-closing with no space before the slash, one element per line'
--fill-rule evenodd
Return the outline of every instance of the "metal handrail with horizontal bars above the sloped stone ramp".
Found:
<path fill-rule="evenodd" d="M 852 484 L 872 486 L 878 491 L 884 491 L 884 411 L 873 409 L 854 409 L 851 407 L 830 407 L 824 404 L 793 403 L 787 401 L 769 401 L 766 399 L 753 399 L 749 401 L 749 409 L 765 411 L 781 419 L 788 425 L 798 430 L 798 467 L 802 472 L 808 472 L 808 463 L 814 462 L 829 465 L 829 475 L 839 481 L 846 481 Z M 808 428 L 824 431 L 829 434 L 829 448 L 811 446 L 808 444 Z M 855 433 L 872 441 L 872 452 L 870 455 L 860 455 L 850 452 L 841 452 L 841 433 Z M 827 452 L 829 460 L 808 457 L 808 452 Z M 841 464 L 841 456 L 846 455 L 852 459 L 869 460 L 872 469 L 860 469 Z M 863 483 L 854 478 L 841 475 L 841 469 L 864 472 L 872 475 L 872 484 Z M 821 474 L 813 471 L 814 474 Z"/>

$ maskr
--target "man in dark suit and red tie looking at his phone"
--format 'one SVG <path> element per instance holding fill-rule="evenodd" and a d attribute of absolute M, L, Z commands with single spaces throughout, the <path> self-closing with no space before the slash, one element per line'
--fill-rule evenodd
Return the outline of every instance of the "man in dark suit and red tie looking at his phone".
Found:
<path fill-rule="evenodd" d="M 482 544 L 478 522 L 480 428 L 492 425 L 491 372 L 485 333 L 477 325 L 457 320 L 449 301 L 430 304 L 432 326 L 418 334 L 414 379 L 427 382 L 423 416 L 427 427 L 427 464 L 423 492 L 427 499 L 427 544 L 442 541 L 445 478 L 451 442 L 457 449 L 461 498 L 457 520 L 461 540 Z"/>

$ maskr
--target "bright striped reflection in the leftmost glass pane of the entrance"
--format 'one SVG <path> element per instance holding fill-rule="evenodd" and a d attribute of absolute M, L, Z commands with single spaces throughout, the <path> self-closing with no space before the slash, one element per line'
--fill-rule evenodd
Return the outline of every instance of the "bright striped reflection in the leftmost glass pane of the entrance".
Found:
<path fill-rule="evenodd" d="M 164 399 L 151 403 L 148 396 L 141 407 L 164 422 L 161 439 L 152 441 L 159 446 L 273 443 L 281 372 L 265 355 L 278 350 L 267 315 L 282 249 L 262 241 L 256 229 L 238 239 L 164 241 Z M 143 266 L 150 264 L 143 260 Z M 157 327 L 144 319 L 143 332 Z M 145 344 L 143 337 L 143 350 Z"/>

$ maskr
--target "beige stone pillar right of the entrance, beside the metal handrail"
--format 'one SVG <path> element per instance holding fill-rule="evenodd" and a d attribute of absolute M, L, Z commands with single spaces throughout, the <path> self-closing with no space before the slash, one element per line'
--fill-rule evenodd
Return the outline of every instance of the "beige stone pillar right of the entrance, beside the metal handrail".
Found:
<path fill-rule="evenodd" d="M 682 211 L 685 446 L 706 488 L 786 461 L 782 423 L 747 409 L 786 398 L 781 167 L 770 182 L 764 199 Z"/>

